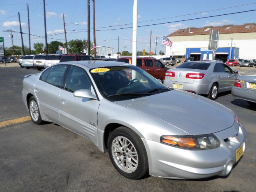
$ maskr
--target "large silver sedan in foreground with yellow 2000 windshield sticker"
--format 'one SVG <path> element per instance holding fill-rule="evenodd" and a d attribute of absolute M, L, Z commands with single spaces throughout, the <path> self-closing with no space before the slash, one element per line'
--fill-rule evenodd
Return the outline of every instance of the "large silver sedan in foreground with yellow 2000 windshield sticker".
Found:
<path fill-rule="evenodd" d="M 246 148 L 246 131 L 230 109 L 167 88 L 130 64 L 55 64 L 24 78 L 22 98 L 32 122 L 88 138 L 130 179 L 227 176 Z"/>

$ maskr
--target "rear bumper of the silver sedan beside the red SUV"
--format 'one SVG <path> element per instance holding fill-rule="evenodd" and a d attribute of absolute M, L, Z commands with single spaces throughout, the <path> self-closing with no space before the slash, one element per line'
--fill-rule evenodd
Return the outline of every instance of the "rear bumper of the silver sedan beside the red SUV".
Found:
<path fill-rule="evenodd" d="M 210 84 L 193 84 L 193 83 L 184 83 L 184 82 L 176 82 L 164 80 L 164 85 L 168 87 L 173 87 L 173 84 L 181 84 L 182 89 L 184 91 L 194 91 L 196 94 L 208 94 L 210 91 Z"/>

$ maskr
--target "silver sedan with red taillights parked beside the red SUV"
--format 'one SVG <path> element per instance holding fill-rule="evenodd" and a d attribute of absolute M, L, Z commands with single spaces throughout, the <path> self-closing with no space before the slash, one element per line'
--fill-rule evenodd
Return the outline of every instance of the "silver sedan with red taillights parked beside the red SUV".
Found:
<path fill-rule="evenodd" d="M 191 61 L 166 71 L 164 85 L 215 100 L 219 92 L 230 91 L 238 76 L 221 62 Z"/>

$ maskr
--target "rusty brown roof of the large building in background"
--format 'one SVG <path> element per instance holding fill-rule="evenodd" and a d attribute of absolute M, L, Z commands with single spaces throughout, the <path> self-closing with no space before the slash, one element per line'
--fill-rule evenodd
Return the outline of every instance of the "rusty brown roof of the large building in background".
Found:
<path fill-rule="evenodd" d="M 190 27 L 186 29 L 179 29 L 168 36 L 192 36 L 192 35 L 207 35 L 210 30 L 218 30 L 220 34 L 225 33 L 250 33 L 256 32 L 256 23 L 245 23 L 243 25 L 224 25 L 224 26 L 205 26 L 202 28 Z"/>

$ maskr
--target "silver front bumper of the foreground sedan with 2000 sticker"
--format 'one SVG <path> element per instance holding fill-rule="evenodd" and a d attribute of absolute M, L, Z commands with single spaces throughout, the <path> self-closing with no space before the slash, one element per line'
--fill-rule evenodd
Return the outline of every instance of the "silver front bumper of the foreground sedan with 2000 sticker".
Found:
<path fill-rule="evenodd" d="M 216 133 L 220 138 L 227 130 Z M 225 132 L 225 133 L 223 133 Z M 236 164 L 236 149 L 246 146 L 246 131 L 240 124 L 238 140 L 220 139 L 218 148 L 186 150 L 142 138 L 148 154 L 149 174 L 172 179 L 200 179 L 211 176 L 227 176 Z"/>

